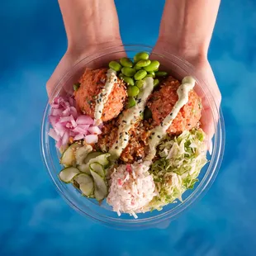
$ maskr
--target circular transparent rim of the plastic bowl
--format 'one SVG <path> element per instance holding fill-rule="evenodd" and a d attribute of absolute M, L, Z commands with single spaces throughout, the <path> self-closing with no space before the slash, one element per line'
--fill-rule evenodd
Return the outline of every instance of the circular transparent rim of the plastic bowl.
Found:
<path fill-rule="evenodd" d="M 56 84 L 55 90 L 51 94 L 50 100 L 47 102 L 46 107 L 45 107 L 42 124 L 41 124 L 41 134 L 40 134 L 40 151 L 41 151 L 42 159 L 44 161 L 45 167 L 48 170 L 48 173 L 50 174 L 50 178 L 52 179 L 53 183 L 55 183 L 55 187 L 57 187 L 57 191 L 60 193 L 60 195 L 62 197 L 64 197 L 65 201 L 67 201 L 70 206 L 72 206 L 75 210 L 77 210 L 82 215 L 91 217 L 92 220 L 97 220 L 97 221 L 102 222 L 105 225 L 108 225 L 111 227 L 113 227 L 113 225 L 114 225 L 115 228 L 126 229 L 126 230 L 134 229 L 135 227 L 140 227 L 140 228 L 150 227 L 150 226 L 156 225 L 157 223 L 159 223 L 160 221 L 163 221 L 163 220 L 174 220 L 178 216 L 180 216 L 183 213 L 183 211 L 185 211 L 195 201 L 200 200 L 201 197 L 203 197 L 206 194 L 207 190 L 211 187 L 211 184 L 214 182 L 214 180 L 216 178 L 216 175 L 220 169 L 221 161 L 223 159 L 224 145 L 225 145 L 225 124 L 224 124 L 224 118 L 223 118 L 221 108 L 217 107 L 214 97 L 212 96 L 210 89 L 207 87 L 207 83 L 206 83 L 205 79 L 200 77 L 200 73 L 197 72 L 196 80 L 198 82 L 198 78 L 200 78 L 199 79 L 200 84 L 204 85 L 203 88 L 200 86 L 201 90 L 204 93 L 207 92 L 206 93 L 207 100 L 208 101 L 211 100 L 211 102 L 213 103 L 213 106 L 211 106 L 211 111 L 212 111 L 212 115 L 213 115 L 215 121 L 217 121 L 217 123 L 216 123 L 216 127 L 215 127 L 216 133 L 214 136 L 214 145 L 215 146 L 213 148 L 213 152 L 211 155 L 211 162 L 209 164 L 209 167 L 206 170 L 206 174 L 204 175 L 204 178 L 202 178 L 202 180 L 198 184 L 197 188 L 192 192 L 192 195 L 190 195 L 185 201 L 183 201 L 183 203 L 180 203 L 177 207 L 175 207 L 170 212 L 167 211 L 167 212 L 161 213 L 161 211 L 159 211 L 158 216 L 149 217 L 147 219 L 136 219 L 136 220 L 122 220 L 119 218 L 112 218 L 112 217 L 101 216 L 101 215 L 95 216 L 94 211 L 91 212 L 90 209 L 87 209 L 88 211 L 83 211 L 81 208 L 76 206 L 73 203 L 73 201 L 70 200 L 69 196 L 66 194 L 63 187 L 60 187 L 58 185 L 58 183 L 56 183 L 56 181 L 55 181 L 55 178 L 56 178 L 55 173 L 52 173 L 52 171 L 51 171 L 51 168 L 54 168 L 53 161 L 51 159 L 51 155 L 48 154 L 49 153 L 48 145 L 45 144 L 45 136 L 47 136 L 47 134 L 45 133 L 45 127 L 47 126 L 47 123 L 49 126 L 48 113 L 50 110 L 50 101 L 52 98 L 55 97 L 55 95 L 59 94 L 59 92 L 61 90 L 61 84 L 65 81 L 65 79 L 70 78 L 70 74 L 72 74 L 75 69 L 79 68 L 79 64 L 83 64 L 83 62 L 85 62 L 85 61 L 87 63 L 90 63 L 93 59 L 96 58 L 96 56 L 98 59 L 104 55 L 110 55 L 112 53 L 118 53 L 118 52 L 126 53 L 127 51 L 135 51 L 132 49 L 133 48 L 136 49 L 139 47 L 144 48 L 144 50 L 148 51 L 148 52 L 151 52 L 153 50 L 153 48 L 149 45 L 127 44 L 127 45 L 107 47 L 105 49 L 98 51 L 97 53 L 88 55 L 83 59 L 79 59 L 77 61 L 77 63 L 75 63 L 73 65 L 73 67 L 71 69 L 69 69 L 69 71 L 67 73 L 65 73 L 64 77 L 61 78 L 59 80 L 59 82 Z M 126 48 L 130 49 L 130 50 L 126 50 Z M 161 53 L 158 53 L 158 52 L 154 52 L 154 53 L 156 55 L 162 55 L 164 57 L 164 59 L 167 59 L 167 60 L 173 62 L 174 64 L 182 65 L 183 68 L 189 69 L 191 72 L 196 73 L 196 70 L 194 69 L 192 64 L 188 63 L 186 60 L 178 57 L 177 55 L 172 55 L 168 52 L 164 52 L 163 50 L 161 50 Z M 215 111 L 213 111 L 212 108 Z M 217 118 L 216 116 L 219 116 L 219 118 Z"/>

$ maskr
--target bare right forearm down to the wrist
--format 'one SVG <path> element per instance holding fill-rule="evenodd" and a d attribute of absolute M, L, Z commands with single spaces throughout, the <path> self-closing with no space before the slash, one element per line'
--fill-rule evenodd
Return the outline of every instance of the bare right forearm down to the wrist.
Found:
<path fill-rule="evenodd" d="M 159 45 L 180 55 L 206 56 L 219 6 L 220 0 L 166 0 Z"/>

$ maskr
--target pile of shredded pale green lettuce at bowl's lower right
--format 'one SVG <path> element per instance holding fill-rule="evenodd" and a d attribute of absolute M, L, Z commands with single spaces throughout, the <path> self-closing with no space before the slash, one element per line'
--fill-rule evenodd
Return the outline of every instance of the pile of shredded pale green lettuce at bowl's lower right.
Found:
<path fill-rule="evenodd" d="M 207 163 L 205 134 L 201 129 L 185 130 L 167 136 L 158 147 L 159 159 L 150 167 L 159 195 L 149 203 L 151 210 L 161 210 L 197 183 L 201 168 Z"/>

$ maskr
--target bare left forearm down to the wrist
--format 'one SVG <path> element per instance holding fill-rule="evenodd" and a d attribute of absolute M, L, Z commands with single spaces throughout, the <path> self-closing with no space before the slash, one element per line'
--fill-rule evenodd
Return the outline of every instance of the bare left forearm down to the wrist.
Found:
<path fill-rule="evenodd" d="M 69 48 L 120 40 L 113 0 L 59 0 L 59 7 Z"/>

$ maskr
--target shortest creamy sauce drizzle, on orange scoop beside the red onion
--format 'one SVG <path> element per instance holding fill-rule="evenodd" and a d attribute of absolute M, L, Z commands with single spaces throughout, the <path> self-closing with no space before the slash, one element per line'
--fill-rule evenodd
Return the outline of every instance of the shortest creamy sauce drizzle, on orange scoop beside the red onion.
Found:
<path fill-rule="evenodd" d="M 95 111 L 94 111 L 94 119 L 96 120 L 96 122 L 100 122 L 100 120 L 102 119 L 102 112 L 103 112 L 104 105 L 106 104 L 107 98 L 111 93 L 111 90 L 114 87 L 116 81 L 117 81 L 116 71 L 114 71 L 113 69 L 108 69 L 107 81 L 105 83 L 105 86 L 102 89 L 102 91 L 97 95 Z"/>

